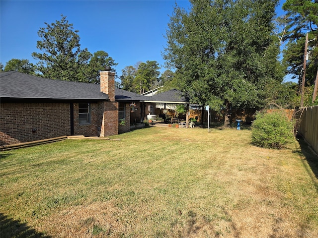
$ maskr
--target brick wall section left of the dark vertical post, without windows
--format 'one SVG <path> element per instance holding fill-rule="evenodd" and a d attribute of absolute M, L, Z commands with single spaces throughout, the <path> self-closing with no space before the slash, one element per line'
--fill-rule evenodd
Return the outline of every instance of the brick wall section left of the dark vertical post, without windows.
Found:
<path fill-rule="evenodd" d="M 0 144 L 70 135 L 69 103 L 1 103 Z"/>

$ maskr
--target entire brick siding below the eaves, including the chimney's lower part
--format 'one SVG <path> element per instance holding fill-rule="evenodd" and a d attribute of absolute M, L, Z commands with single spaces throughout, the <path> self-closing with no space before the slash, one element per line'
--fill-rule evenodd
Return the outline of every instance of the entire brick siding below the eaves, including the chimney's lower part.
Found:
<path fill-rule="evenodd" d="M 79 125 L 79 104 L 74 103 L 74 134 L 109 136 L 130 130 L 130 107 L 126 104 L 126 125 L 119 126 L 118 102 L 90 104 L 91 121 Z M 15 144 L 71 135 L 69 103 L 2 103 L 0 144 Z M 32 129 L 36 131 L 33 132 Z"/>

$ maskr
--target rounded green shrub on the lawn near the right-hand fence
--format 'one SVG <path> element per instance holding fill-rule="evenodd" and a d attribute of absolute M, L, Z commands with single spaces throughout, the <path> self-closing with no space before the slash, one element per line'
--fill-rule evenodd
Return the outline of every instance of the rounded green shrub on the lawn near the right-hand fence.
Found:
<path fill-rule="evenodd" d="M 260 112 L 252 124 L 252 144 L 264 148 L 282 148 L 294 138 L 294 122 L 283 111 Z"/>

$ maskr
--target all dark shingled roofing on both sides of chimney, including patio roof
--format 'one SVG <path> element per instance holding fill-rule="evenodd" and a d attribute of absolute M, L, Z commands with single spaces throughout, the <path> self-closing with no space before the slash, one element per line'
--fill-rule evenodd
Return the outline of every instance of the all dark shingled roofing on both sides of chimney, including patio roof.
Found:
<path fill-rule="evenodd" d="M 29 100 L 91 100 L 107 101 L 108 95 L 100 92 L 100 85 L 41 78 L 21 72 L 0 72 L 1 99 Z M 143 96 L 115 88 L 115 100 L 119 102 L 141 101 L 153 103 L 188 103 L 178 90 L 170 90 L 154 96 Z"/>

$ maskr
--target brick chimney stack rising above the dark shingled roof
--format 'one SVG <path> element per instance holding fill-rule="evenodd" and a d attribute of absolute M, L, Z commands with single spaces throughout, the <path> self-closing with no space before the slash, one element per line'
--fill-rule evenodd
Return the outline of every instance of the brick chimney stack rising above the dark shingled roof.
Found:
<path fill-rule="evenodd" d="M 110 72 L 110 67 L 100 71 L 100 91 L 108 94 L 109 101 L 115 101 L 115 73 Z"/>

